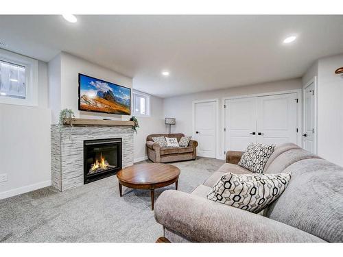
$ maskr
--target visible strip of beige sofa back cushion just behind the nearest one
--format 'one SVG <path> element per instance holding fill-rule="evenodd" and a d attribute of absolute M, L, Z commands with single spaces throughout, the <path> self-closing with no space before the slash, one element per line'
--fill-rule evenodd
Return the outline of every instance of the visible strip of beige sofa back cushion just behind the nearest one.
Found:
<path fill-rule="evenodd" d="M 311 158 L 320 158 L 316 154 L 312 154 L 309 151 L 306 151 L 302 148 L 290 149 L 283 152 L 277 156 L 272 163 L 270 163 L 268 169 L 265 169 L 263 173 L 272 174 L 272 173 L 281 173 L 289 165 L 298 162 L 299 160 L 311 159 Z"/>

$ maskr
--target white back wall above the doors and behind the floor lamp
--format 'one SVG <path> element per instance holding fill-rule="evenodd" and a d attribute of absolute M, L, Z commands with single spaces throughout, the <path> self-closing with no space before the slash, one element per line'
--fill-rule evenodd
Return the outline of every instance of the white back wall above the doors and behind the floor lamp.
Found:
<path fill-rule="evenodd" d="M 226 88 L 222 90 L 212 90 L 178 97 L 169 97 L 164 99 L 163 109 L 165 117 L 176 118 L 176 125 L 171 126 L 171 133 L 183 133 L 192 136 L 192 101 L 203 99 L 219 99 L 219 128 L 222 127 L 222 98 L 238 95 L 253 95 L 259 93 L 272 93 L 283 90 L 293 90 L 302 87 L 301 79 L 288 79 L 279 82 L 270 82 L 264 84 L 255 84 L 249 86 L 239 86 L 235 88 Z M 220 151 L 219 157 L 222 157 L 224 149 L 223 133 L 219 134 L 220 145 L 217 145 L 217 151 Z"/>

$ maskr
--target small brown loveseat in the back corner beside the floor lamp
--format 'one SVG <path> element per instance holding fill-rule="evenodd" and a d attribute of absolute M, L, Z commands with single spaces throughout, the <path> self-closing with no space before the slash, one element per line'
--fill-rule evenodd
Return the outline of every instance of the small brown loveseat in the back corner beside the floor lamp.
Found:
<path fill-rule="evenodd" d="M 147 136 L 147 156 L 153 162 L 176 162 L 179 160 L 196 160 L 196 147 L 198 142 L 190 140 L 187 147 L 160 147 L 158 143 L 154 143 L 153 137 L 165 136 L 169 138 L 180 138 L 184 134 L 152 134 Z"/>

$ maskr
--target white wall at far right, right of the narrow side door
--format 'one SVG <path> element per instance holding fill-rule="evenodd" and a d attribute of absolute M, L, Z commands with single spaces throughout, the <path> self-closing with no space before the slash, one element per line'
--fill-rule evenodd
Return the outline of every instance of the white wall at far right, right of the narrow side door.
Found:
<path fill-rule="evenodd" d="M 318 155 L 343 166 L 343 54 L 318 61 Z"/>

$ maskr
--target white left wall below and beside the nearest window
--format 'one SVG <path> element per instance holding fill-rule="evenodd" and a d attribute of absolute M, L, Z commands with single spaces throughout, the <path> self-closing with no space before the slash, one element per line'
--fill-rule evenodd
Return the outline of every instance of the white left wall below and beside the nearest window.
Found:
<path fill-rule="evenodd" d="M 0 199 L 51 184 L 47 63 L 38 61 L 38 107 L 0 104 Z"/>

